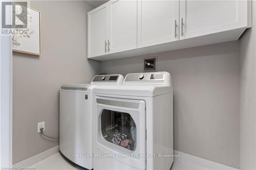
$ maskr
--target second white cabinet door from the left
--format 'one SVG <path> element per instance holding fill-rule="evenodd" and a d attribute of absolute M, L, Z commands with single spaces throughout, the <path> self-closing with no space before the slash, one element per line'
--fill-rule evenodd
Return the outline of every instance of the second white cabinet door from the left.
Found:
<path fill-rule="evenodd" d="M 110 53 L 137 48 L 137 1 L 110 1 L 108 10 Z"/>

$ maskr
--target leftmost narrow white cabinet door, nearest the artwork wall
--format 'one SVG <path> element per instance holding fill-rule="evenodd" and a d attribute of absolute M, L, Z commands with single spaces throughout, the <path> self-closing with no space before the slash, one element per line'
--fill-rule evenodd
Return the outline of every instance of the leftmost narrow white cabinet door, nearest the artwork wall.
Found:
<path fill-rule="evenodd" d="M 107 53 L 106 6 L 88 13 L 88 58 Z"/>

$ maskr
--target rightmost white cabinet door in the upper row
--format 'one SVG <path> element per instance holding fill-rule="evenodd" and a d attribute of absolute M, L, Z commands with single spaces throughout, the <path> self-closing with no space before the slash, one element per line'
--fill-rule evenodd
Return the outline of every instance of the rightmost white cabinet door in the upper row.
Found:
<path fill-rule="evenodd" d="M 247 1 L 180 1 L 180 39 L 247 27 Z"/>

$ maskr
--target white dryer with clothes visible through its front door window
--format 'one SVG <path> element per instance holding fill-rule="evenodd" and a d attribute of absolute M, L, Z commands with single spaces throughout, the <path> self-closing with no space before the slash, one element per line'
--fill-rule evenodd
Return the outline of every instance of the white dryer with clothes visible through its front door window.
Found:
<path fill-rule="evenodd" d="M 170 169 L 173 86 L 168 72 L 128 74 L 122 86 L 94 88 L 98 169 Z"/>

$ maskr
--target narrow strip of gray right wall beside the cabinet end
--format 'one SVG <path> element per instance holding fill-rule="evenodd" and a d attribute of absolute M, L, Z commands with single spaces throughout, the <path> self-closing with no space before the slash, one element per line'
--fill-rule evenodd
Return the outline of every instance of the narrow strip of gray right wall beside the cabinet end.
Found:
<path fill-rule="evenodd" d="M 256 2 L 252 1 L 252 28 L 241 38 L 240 166 L 256 169 Z"/>

